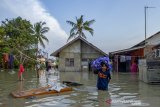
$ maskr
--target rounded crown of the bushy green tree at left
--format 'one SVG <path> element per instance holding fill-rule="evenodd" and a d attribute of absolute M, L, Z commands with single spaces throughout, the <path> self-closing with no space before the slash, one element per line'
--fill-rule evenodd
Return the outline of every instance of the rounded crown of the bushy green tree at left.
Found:
<path fill-rule="evenodd" d="M 25 49 L 34 44 L 35 37 L 32 35 L 32 24 L 17 17 L 12 20 L 2 21 L 2 27 L 5 29 L 5 41 L 11 48 Z"/>

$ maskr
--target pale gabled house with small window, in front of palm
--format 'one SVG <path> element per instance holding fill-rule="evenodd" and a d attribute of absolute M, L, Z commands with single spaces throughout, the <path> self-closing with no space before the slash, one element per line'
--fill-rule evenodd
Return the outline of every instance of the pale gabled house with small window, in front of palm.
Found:
<path fill-rule="evenodd" d="M 91 70 L 90 62 L 105 55 L 105 52 L 80 36 L 51 54 L 51 56 L 58 57 L 59 71 Z"/>

